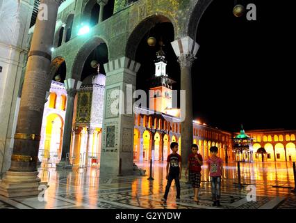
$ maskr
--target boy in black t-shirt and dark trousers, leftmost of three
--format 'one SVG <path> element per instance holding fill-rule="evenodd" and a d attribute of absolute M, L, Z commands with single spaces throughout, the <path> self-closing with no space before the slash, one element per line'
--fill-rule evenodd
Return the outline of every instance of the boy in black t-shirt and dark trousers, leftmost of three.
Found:
<path fill-rule="evenodd" d="M 167 195 L 169 194 L 172 180 L 174 180 L 176 185 L 176 201 L 180 201 L 181 155 L 176 153 L 178 151 L 178 144 L 176 142 L 172 142 L 170 148 L 172 149 L 172 153 L 167 156 L 167 186 L 165 187 L 165 195 L 161 200 L 167 201 Z"/>

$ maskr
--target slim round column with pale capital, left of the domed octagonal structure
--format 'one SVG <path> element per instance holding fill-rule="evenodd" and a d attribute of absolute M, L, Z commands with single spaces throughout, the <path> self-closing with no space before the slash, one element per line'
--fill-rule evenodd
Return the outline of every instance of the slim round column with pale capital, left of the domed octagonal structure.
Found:
<path fill-rule="evenodd" d="M 65 80 L 65 88 L 67 90 L 67 109 L 65 116 L 65 127 L 63 132 L 63 148 L 62 157 L 60 162 L 56 165 L 57 168 L 65 167 L 66 155 L 70 151 L 71 137 L 72 137 L 72 123 L 73 123 L 73 111 L 75 95 L 78 89 L 80 89 L 82 82 L 75 79 Z"/>

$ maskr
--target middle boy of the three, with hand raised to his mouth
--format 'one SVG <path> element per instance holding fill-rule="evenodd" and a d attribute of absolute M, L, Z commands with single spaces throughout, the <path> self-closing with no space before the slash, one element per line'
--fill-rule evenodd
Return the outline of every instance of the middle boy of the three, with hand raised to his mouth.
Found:
<path fill-rule="evenodd" d="M 197 144 L 192 144 L 191 151 L 192 153 L 188 157 L 188 165 L 185 171 L 185 176 L 188 175 L 188 169 L 189 169 L 190 170 L 189 178 L 195 193 L 195 197 L 193 200 L 195 202 L 198 202 L 197 196 L 198 196 L 198 190 L 200 187 L 200 178 L 201 178 L 200 172 L 202 171 L 202 155 L 197 153 L 198 151 Z"/>

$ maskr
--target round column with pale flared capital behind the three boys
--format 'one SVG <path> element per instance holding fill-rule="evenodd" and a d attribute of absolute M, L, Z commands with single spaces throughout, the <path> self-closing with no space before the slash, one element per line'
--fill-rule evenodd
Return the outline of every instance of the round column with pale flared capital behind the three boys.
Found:
<path fill-rule="evenodd" d="M 189 36 L 172 42 L 172 47 L 181 68 L 181 90 L 186 91 L 186 105 L 181 106 L 181 117 L 185 119 L 181 123 L 181 157 L 182 163 L 186 164 L 193 142 L 193 114 L 192 114 L 192 79 L 191 67 L 199 45 Z"/>

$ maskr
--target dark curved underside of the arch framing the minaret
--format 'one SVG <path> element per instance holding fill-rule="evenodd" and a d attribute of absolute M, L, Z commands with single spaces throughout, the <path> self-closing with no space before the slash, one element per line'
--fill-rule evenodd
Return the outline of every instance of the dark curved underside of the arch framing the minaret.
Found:
<path fill-rule="evenodd" d="M 154 13 L 156 12 L 154 11 Z M 151 15 L 149 17 L 146 17 L 145 20 L 142 20 L 142 22 L 135 26 L 133 31 L 131 31 L 125 48 L 126 57 L 135 60 L 135 54 L 137 52 L 138 46 L 140 45 L 142 38 L 144 38 L 146 33 L 149 32 L 149 30 L 152 29 L 156 24 L 163 22 L 172 23 L 174 27 L 174 33 L 176 36 L 176 31 L 178 31 L 178 29 L 176 29 L 177 25 L 174 19 L 169 15 L 157 13 L 157 15 Z"/>

